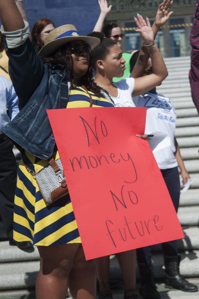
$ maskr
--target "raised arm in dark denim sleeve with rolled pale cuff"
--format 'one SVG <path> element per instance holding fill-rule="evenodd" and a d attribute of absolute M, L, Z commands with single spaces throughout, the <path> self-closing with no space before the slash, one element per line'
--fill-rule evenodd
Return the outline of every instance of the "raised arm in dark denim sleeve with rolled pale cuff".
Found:
<path fill-rule="evenodd" d="M 22 109 L 40 84 L 45 67 L 28 39 L 28 23 L 24 24 L 14 0 L 0 0 L 0 18 L 9 74 Z"/>

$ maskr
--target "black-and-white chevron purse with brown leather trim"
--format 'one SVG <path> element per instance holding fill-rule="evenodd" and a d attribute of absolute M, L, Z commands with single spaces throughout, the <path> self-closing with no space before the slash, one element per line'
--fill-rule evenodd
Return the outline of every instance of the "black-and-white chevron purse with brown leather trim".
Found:
<path fill-rule="evenodd" d="M 43 199 L 47 204 L 51 204 L 64 194 L 68 193 L 66 178 L 64 176 L 61 159 L 50 159 L 49 165 L 41 169 L 38 173 L 26 166 L 26 169 L 35 177 Z"/>

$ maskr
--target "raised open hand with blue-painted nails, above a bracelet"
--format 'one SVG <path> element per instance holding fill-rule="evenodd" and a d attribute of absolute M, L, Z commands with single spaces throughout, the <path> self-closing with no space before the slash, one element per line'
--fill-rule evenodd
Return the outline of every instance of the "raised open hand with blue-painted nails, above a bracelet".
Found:
<path fill-rule="evenodd" d="M 141 38 L 145 42 L 145 44 L 150 44 L 154 40 L 153 31 L 151 29 L 151 25 L 149 22 L 149 18 L 146 18 L 146 22 L 139 13 L 137 14 L 137 18 L 135 17 L 135 23 L 138 26 L 136 30 L 141 34 Z"/>

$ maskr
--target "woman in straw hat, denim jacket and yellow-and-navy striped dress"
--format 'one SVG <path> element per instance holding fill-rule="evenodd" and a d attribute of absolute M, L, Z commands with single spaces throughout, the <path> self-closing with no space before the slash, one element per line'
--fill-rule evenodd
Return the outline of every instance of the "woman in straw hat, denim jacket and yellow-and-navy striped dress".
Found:
<path fill-rule="evenodd" d="M 95 107 L 114 106 L 92 79 L 90 53 L 100 41 L 79 36 L 73 25 L 63 25 L 49 33 L 38 55 L 28 39 L 28 23 L 14 0 L 0 1 L 0 17 L 20 109 L 4 129 L 22 152 L 13 239 L 32 240 L 38 246 L 37 299 L 65 299 L 68 285 L 73 298 L 94 299 L 94 263 L 85 260 L 66 180 L 61 165 L 56 163 L 59 153 L 46 109 L 89 107 L 92 103 Z M 51 192 L 50 204 L 44 201 L 46 197 L 36 181 L 39 173 L 44 173 L 41 179 L 47 181 L 48 192 L 52 184 L 49 163 L 53 176 L 61 178 L 57 195 Z M 60 190 L 64 190 L 61 197 Z"/>

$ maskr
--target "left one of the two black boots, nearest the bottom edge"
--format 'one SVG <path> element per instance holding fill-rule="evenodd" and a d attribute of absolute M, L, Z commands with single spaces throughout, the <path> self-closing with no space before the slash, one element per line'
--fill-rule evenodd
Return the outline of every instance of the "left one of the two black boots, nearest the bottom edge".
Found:
<path fill-rule="evenodd" d="M 141 286 L 140 295 L 143 299 L 160 299 L 156 285 L 153 280 L 153 271 L 146 263 L 138 263 Z"/>

